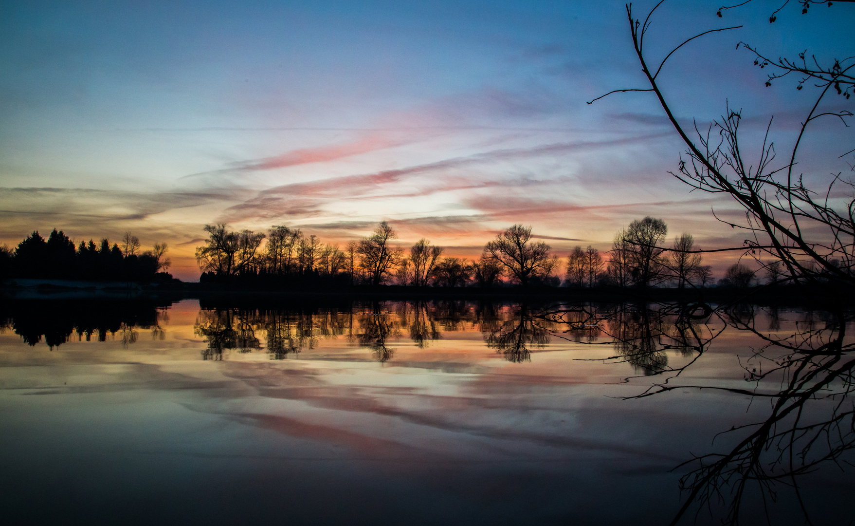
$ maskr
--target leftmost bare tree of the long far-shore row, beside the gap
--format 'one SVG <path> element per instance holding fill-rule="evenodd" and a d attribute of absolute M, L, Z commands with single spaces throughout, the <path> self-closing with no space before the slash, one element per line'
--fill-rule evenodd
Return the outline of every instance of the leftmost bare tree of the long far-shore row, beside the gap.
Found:
<path fill-rule="evenodd" d="M 209 239 L 204 246 L 197 247 L 196 261 L 203 272 L 231 279 L 257 263 L 258 247 L 265 236 L 251 230 L 228 232 L 227 228 L 226 223 L 205 225 Z"/>

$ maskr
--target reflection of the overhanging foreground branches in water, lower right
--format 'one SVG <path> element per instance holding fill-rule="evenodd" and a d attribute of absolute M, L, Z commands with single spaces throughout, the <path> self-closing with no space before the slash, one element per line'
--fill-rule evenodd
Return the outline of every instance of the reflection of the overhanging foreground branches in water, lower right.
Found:
<path fill-rule="evenodd" d="M 718 389 L 768 399 L 769 417 L 724 431 L 741 434 L 729 452 L 708 453 L 681 464 L 694 469 L 681 477 L 681 489 L 688 495 L 672 523 L 693 504 L 708 509 L 723 504 L 725 523 L 738 524 L 746 491 L 754 485 L 770 502 L 781 498 L 779 488 L 790 488 L 805 523 L 810 524 L 810 505 L 799 491 L 798 477 L 829 462 L 841 468 L 852 465 L 851 458 L 844 457 L 855 447 L 855 412 L 849 399 L 855 342 L 846 335 L 851 316 L 840 310 L 817 320 L 817 313 L 809 312 L 796 323 L 793 334 L 778 338 L 756 328 L 750 306 L 724 310 L 723 314 L 730 326 L 764 341 L 743 367 L 751 387 L 658 384 L 642 396 L 677 388 Z M 773 319 L 777 317 L 775 313 Z"/>

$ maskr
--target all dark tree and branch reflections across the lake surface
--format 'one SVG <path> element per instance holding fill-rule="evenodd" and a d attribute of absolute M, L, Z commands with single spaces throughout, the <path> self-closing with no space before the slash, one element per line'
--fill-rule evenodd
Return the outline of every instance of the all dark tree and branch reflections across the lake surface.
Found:
<path fill-rule="evenodd" d="M 29 346 L 110 338 L 128 347 L 139 345 L 144 331 L 166 338 L 163 306 L 21 302 L 5 304 L 0 319 Z M 735 524 L 746 510 L 775 501 L 798 503 L 810 523 L 816 510 L 803 497 L 802 477 L 827 464 L 846 466 L 855 448 L 851 310 L 463 300 L 211 305 L 198 311 L 193 330 L 204 341 L 204 360 L 222 360 L 228 351 L 310 358 L 325 341 L 343 340 L 379 363 L 394 361 L 404 345 L 429 351 L 451 340 L 451 332 L 475 332 L 479 345 L 514 363 L 507 366 L 514 370 L 533 366 L 534 352 L 558 343 L 569 346 L 572 359 L 583 359 L 572 354 L 579 349 L 601 349 L 584 359 L 630 366 L 632 376 L 624 381 L 639 387 L 628 398 L 675 404 L 668 393 L 699 389 L 743 397 L 756 418 L 716 430 L 711 446 L 676 466 L 683 499 L 672 523 L 706 510 Z M 706 375 L 709 369 L 693 375 L 711 350 L 722 347 L 739 350 L 724 355 L 739 364 L 739 375 L 716 378 Z"/>

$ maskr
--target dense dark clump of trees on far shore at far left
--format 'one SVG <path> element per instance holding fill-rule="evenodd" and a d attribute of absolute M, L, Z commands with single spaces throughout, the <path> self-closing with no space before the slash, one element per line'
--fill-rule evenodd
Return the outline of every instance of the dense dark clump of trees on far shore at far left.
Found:
<path fill-rule="evenodd" d="M 119 243 L 93 239 L 75 245 L 62 230 L 53 230 L 44 239 L 31 233 L 14 250 L 0 247 L 0 275 L 8 278 L 41 278 L 87 281 L 170 280 L 165 273 L 170 261 L 167 245 L 156 243 L 141 251 L 139 239 L 125 233 Z"/>

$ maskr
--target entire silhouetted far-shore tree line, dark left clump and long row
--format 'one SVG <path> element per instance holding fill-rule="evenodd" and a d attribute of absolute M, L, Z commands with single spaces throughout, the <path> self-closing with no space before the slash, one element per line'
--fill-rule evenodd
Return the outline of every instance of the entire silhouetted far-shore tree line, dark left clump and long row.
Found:
<path fill-rule="evenodd" d="M 611 250 L 575 246 L 562 259 L 537 240 L 531 227 L 513 225 L 487 242 L 481 257 L 444 257 L 445 248 L 428 239 L 404 249 L 397 233 L 380 222 L 363 239 L 344 248 L 324 243 L 298 228 L 274 226 L 267 233 L 233 232 L 225 223 L 206 225 L 209 237 L 196 250 L 200 281 L 227 286 L 274 284 L 282 287 L 349 287 L 400 285 L 413 287 L 706 287 L 714 283 L 711 266 L 702 264 L 692 234 L 682 233 L 670 246 L 663 243 L 668 227 L 645 217 L 619 230 Z M 170 280 L 165 270 L 167 245 L 142 251 L 128 232 L 121 241 L 103 238 L 75 244 L 54 229 L 47 239 L 38 231 L 14 250 L 0 247 L 4 277 L 85 281 Z M 781 281 L 781 266 L 767 266 L 765 279 Z M 742 263 L 732 265 L 719 285 L 751 287 L 760 281 Z"/>

